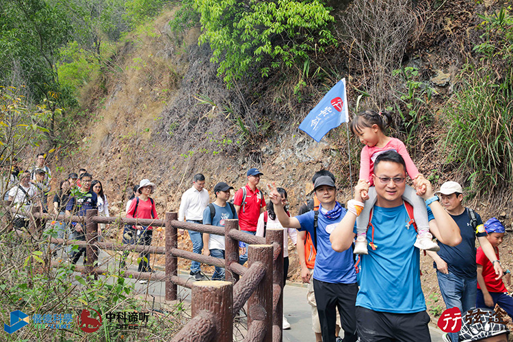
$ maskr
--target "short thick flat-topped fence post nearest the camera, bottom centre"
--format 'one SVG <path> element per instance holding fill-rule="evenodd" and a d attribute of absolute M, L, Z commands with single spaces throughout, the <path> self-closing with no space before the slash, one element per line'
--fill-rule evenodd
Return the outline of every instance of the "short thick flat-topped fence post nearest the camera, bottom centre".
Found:
<path fill-rule="evenodd" d="M 232 282 L 207 280 L 192 285 L 192 317 L 204 315 L 214 321 L 215 342 L 233 340 L 232 298 Z"/>

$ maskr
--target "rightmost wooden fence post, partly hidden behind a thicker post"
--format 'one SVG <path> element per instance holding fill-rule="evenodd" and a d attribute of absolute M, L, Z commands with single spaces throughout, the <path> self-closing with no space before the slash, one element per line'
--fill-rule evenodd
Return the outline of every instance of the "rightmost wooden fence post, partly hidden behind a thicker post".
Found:
<path fill-rule="evenodd" d="M 273 312 L 272 312 L 272 325 L 273 325 L 273 342 L 281 342 L 283 339 L 283 229 L 284 228 L 268 228 L 265 233 L 265 242 L 273 246 Z M 285 275 L 286 276 L 286 275 Z"/>

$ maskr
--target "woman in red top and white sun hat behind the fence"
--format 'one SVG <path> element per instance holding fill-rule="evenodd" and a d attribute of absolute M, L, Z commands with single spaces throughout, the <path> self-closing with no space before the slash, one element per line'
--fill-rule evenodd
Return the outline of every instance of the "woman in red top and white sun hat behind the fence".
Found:
<path fill-rule="evenodd" d="M 155 202 L 153 198 L 150 198 L 150 194 L 153 193 L 155 187 L 154 183 L 151 183 L 148 179 L 143 179 L 139 183 L 137 191 L 140 193 L 139 197 L 134 198 L 130 204 L 129 210 L 127 211 L 127 218 L 146 218 L 146 219 L 157 219 L 157 209 L 155 209 Z M 137 229 L 137 244 L 149 246 L 153 237 L 152 226 L 133 226 Z M 144 252 L 140 254 L 141 261 L 139 263 L 139 272 L 153 272 L 150 267 L 150 252 Z M 142 280 L 141 282 L 146 282 Z"/>

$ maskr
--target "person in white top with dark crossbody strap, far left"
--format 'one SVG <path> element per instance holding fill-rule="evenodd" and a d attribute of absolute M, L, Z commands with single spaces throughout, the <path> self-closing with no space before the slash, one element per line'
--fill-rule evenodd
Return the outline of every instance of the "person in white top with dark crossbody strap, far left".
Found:
<path fill-rule="evenodd" d="M 30 209 L 38 198 L 38 189 L 30 183 L 30 172 L 20 174 L 20 184 L 9 190 L 9 200 L 14 209 L 14 228 L 28 228 Z"/>

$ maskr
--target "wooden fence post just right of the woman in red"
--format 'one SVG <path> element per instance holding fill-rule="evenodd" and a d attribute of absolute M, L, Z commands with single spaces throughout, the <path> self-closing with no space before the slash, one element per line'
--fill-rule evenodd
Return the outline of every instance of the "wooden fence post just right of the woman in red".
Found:
<path fill-rule="evenodd" d="M 171 249 L 178 248 L 178 229 L 171 222 L 178 220 L 178 213 L 166 213 L 166 300 L 178 298 L 178 287 L 171 281 L 172 276 L 178 275 L 178 258 L 172 256 Z"/>

